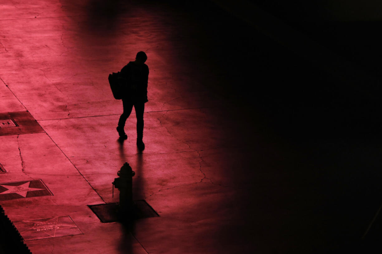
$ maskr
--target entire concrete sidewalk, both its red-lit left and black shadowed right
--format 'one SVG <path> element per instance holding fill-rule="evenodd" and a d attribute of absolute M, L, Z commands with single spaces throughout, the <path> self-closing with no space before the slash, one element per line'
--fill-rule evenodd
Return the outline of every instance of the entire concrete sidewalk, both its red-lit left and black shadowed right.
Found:
<path fill-rule="evenodd" d="M 5 0 L 0 13 L 0 116 L 19 117 L 0 129 L 0 204 L 32 253 L 340 252 L 377 211 L 379 144 L 330 108 L 358 81 L 347 93 L 219 6 Z M 107 81 L 141 50 L 142 153 L 134 113 L 118 141 Z M 133 199 L 159 215 L 129 228 L 89 208 L 118 202 L 126 161 Z"/>

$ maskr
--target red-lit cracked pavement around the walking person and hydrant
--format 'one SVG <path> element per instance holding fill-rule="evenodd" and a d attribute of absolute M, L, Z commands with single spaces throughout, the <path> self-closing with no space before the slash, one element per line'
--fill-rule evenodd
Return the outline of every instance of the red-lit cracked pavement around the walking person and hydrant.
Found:
<path fill-rule="evenodd" d="M 6 214 L 12 221 L 69 215 L 83 233 L 26 241 L 34 254 L 245 249 L 252 243 L 232 242 L 246 228 L 245 220 L 236 221 L 235 186 L 251 181 L 238 174 L 236 154 L 242 153 L 235 152 L 236 137 L 227 135 L 237 126 L 223 117 L 222 98 L 199 84 L 204 73 L 194 77 L 182 59 L 194 53 L 182 52 L 188 38 L 174 36 L 188 24 L 170 7 L 132 3 L 108 27 L 113 17 L 89 13 L 91 6 L 45 0 L 0 5 L 0 113 L 29 111 L 44 130 L 0 136 L 6 170 L 0 182 L 41 179 L 53 194 L 1 201 Z M 150 68 L 142 154 L 134 114 L 125 127 L 128 140 L 117 141 L 121 101 L 107 81 L 140 50 Z M 112 182 L 125 161 L 136 171 L 134 199 L 146 199 L 160 215 L 137 220 L 133 232 L 101 223 L 87 206 L 118 201 Z M 244 178 L 231 179 L 236 174 Z"/>

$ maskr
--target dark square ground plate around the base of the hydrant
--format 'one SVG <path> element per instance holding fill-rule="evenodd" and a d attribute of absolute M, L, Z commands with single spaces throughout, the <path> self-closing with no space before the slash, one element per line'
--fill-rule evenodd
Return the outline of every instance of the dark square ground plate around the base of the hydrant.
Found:
<path fill-rule="evenodd" d="M 117 222 L 118 221 L 118 203 L 99 204 L 89 206 L 90 209 L 97 215 L 101 222 Z M 147 204 L 145 200 L 137 200 L 133 202 L 133 213 L 131 219 L 143 219 L 150 217 L 159 217 L 157 212 Z"/>

